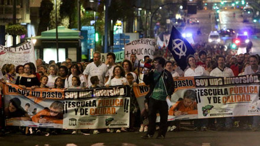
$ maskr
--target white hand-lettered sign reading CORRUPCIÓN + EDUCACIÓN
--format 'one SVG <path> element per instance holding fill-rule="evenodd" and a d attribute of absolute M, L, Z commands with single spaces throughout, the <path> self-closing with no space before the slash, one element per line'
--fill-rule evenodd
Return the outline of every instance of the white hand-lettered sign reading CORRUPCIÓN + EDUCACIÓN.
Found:
<path fill-rule="evenodd" d="M 131 54 L 135 54 L 138 60 L 148 55 L 153 59 L 155 54 L 155 39 L 143 38 L 125 44 L 125 59 L 130 60 Z"/>

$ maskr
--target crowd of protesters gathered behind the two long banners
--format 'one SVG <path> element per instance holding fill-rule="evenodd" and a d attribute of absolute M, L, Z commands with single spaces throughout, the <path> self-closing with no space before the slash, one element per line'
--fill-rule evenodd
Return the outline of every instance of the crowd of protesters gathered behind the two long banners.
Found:
<path fill-rule="evenodd" d="M 196 53 L 187 57 L 186 63 L 188 66 L 186 70 L 181 70 L 166 48 L 157 48 L 157 55 L 166 58 L 164 67 L 165 70 L 168 70 L 172 74 L 173 79 L 188 76 L 232 77 L 260 72 L 258 55 L 250 55 L 249 53 L 236 55 L 233 50 L 225 50 L 221 45 L 209 45 L 206 43 L 196 44 L 193 47 Z M 0 79 L 1 83 L 14 83 L 21 88 L 31 87 L 32 89 L 87 89 L 117 85 L 129 85 L 132 88 L 133 86 L 138 86 L 138 83 L 143 83 L 143 68 L 138 66 L 139 63 L 136 55 L 132 54 L 131 60 L 124 60 L 121 63 L 115 63 L 116 56 L 114 53 L 107 54 L 105 63 L 100 60 L 100 57 L 101 54 L 95 52 L 90 62 L 73 63 L 71 59 L 67 58 L 62 63 L 55 63 L 55 61 L 51 60 L 48 64 L 41 59 L 37 59 L 36 66 L 33 63 L 26 63 L 25 65 L 18 65 L 16 67 L 12 64 L 5 64 L 0 71 Z M 141 63 L 145 63 L 148 60 L 150 60 L 150 57 L 145 56 Z M 186 95 L 187 97 L 184 97 L 183 101 L 178 101 L 178 106 L 169 110 L 169 114 L 187 114 L 186 109 L 197 108 L 195 101 L 196 94 L 193 95 L 192 92 L 187 92 Z M 145 113 L 145 111 L 140 111 L 133 93 L 131 94 L 130 101 L 131 114 L 129 129 L 95 129 L 91 132 L 98 134 L 101 131 L 138 131 L 135 127 L 140 127 L 139 132 L 147 132 L 147 124 L 144 124 L 141 117 L 141 113 Z M 9 109 L 15 110 L 21 106 L 19 105 L 21 104 L 19 99 L 14 99 L 10 103 L 12 107 L 8 107 Z M 27 113 L 24 109 L 19 110 L 21 110 L 20 117 L 31 118 L 30 115 L 37 114 L 35 109 L 32 113 Z M 5 116 L 12 118 L 12 110 L 7 110 L 5 113 L 9 113 Z M 146 116 L 148 115 L 146 114 Z M 207 129 L 225 130 L 234 127 L 251 128 L 253 131 L 256 131 L 259 126 L 259 116 L 196 119 L 191 121 L 194 121 L 194 130 L 202 131 L 206 131 Z M 156 126 L 157 128 L 158 126 Z M 168 122 L 167 131 L 173 131 L 176 128 L 180 129 L 178 122 Z M 25 134 L 28 135 L 28 128 L 24 130 Z M 80 130 L 76 130 L 72 134 L 80 132 Z M 53 133 L 56 134 L 56 131 Z"/>

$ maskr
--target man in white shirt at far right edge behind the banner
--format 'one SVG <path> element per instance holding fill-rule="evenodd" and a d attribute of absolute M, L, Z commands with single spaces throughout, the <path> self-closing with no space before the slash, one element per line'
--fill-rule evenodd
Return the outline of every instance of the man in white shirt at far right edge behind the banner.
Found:
<path fill-rule="evenodd" d="M 251 55 L 249 57 L 249 64 L 250 65 L 245 68 L 244 75 L 260 73 L 260 66 L 258 65 L 258 57 L 256 55 Z M 257 101 L 255 102 L 255 104 L 258 105 Z M 253 116 L 252 131 L 258 130 L 259 122 L 260 122 L 260 116 Z"/>

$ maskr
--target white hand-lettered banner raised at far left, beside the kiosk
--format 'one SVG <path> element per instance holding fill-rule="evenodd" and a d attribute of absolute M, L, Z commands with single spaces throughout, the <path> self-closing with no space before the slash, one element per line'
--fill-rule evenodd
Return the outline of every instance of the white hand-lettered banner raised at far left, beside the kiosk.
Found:
<path fill-rule="evenodd" d="M 27 42 L 18 47 L 4 47 L 0 45 L 0 69 L 4 64 L 24 65 L 32 62 L 36 66 L 34 47 L 31 42 Z"/>

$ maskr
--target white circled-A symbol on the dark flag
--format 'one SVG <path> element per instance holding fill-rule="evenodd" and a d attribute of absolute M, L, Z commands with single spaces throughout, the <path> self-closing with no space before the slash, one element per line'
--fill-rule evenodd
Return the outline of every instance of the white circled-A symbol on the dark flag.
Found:
<path fill-rule="evenodd" d="M 181 59 L 181 56 L 186 56 L 187 47 L 183 40 L 181 39 L 175 39 L 173 40 L 173 47 L 172 50 L 176 55 L 179 56 L 179 59 Z"/>

